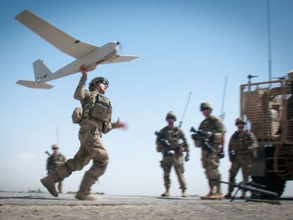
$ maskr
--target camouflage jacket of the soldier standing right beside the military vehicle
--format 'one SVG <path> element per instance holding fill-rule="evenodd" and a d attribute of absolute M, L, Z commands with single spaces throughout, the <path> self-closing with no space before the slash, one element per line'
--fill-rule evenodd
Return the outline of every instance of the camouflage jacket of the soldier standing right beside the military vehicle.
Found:
<path fill-rule="evenodd" d="M 258 141 L 256 140 L 253 132 L 243 131 L 239 133 L 234 132 L 229 141 L 229 152 L 234 149 L 237 154 L 248 154 L 258 148 Z"/>

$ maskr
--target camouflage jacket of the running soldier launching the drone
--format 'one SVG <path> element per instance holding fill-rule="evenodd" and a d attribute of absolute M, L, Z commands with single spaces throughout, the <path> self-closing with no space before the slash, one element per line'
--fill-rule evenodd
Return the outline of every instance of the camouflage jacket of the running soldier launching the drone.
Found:
<path fill-rule="evenodd" d="M 86 89 L 86 79 L 84 76 L 81 76 L 81 80 L 79 81 L 79 85 L 76 88 L 74 93 L 74 98 L 81 101 L 81 106 L 83 108 L 81 125 L 88 122 L 89 120 L 93 120 L 90 117 L 92 98 L 95 97 L 98 92 L 97 91 L 87 91 Z M 95 120 L 96 121 L 96 120 Z M 110 122 L 102 122 L 103 126 L 100 129 L 100 132 L 106 134 L 110 132 L 111 129 L 115 128 L 115 123 Z"/>

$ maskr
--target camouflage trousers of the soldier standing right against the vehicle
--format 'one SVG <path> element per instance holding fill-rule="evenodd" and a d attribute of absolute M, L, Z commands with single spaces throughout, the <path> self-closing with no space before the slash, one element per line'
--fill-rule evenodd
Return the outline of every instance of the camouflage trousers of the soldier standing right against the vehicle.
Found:
<path fill-rule="evenodd" d="M 242 170 L 243 181 L 248 182 L 252 168 L 252 159 L 250 154 L 239 154 L 236 156 L 229 170 L 229 182 L 235 183 L 235 178 L 240 168 Z M 233 185 L 229 185 L 229 192 L 233 192 L 233 190 Z"/>

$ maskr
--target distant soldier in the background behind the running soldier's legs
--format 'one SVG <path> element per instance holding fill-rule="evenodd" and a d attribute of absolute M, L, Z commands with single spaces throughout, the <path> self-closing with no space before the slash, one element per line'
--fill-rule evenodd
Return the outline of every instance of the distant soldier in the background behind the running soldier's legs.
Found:
<path fill-rule="evenodd" d="M 66 157 L 59 153 L 59 146 L 57 144 L 52 145 L 53 154 L 47 158 L 47 173 L 50 174 L 57 166 L 61 166 L 65 163 Z M 47 151 L 46 151 L 47 152 Z M 62 193 L 62 180 L 58 183 L 58 192 Z"/>

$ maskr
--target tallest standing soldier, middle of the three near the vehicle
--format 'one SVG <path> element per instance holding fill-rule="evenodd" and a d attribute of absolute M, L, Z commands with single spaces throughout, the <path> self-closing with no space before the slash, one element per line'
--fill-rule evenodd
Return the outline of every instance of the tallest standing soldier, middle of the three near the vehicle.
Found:
<path fill-rule="evenodd" d="M 209 193 L 201 199 L 222 199 L 221 174 L 219 173 L 219 156 L 222 154 L 224 146 L 224 134 L 226 132 L 222 121 L 218 117 L 211 115 L 212 105 L 210 103 L 201 103 L 200 111 L 205 116 L 205 120 L 200 123 L 199 129 L 207 134 L 207 139 L 212 147 L 216 150 L 210 151 L 204 147 L 204 142 L 195 139 L 195 146 L 202 148 L 202 167 L 205 169 L 205 175 L 209 181 Z"/>

